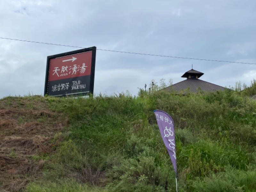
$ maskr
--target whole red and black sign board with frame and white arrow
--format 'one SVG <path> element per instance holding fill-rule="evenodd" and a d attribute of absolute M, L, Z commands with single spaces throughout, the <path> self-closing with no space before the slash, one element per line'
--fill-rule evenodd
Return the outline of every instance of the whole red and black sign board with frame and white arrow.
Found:
<path fill-rule="evenodd" d="M 47 57 L 44 95 L 93 94 L 96 47 Z"/>

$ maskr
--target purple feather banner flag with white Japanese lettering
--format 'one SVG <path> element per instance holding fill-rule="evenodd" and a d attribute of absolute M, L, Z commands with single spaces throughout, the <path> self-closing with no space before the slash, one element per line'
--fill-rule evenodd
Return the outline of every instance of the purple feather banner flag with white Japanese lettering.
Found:
<path fill-rule="evenodd" d="M 172 165 L 175 173 L 177 174 L 176 165 L 176 149 L 175 149 L 175 134 L 174 134 L 174 123 L 172 117 L 164 111 L 154 110 L 156 115 L 157 124 L 164 141 L 164 145 L 167 148 L 169 156 L 172 160 Z"/>

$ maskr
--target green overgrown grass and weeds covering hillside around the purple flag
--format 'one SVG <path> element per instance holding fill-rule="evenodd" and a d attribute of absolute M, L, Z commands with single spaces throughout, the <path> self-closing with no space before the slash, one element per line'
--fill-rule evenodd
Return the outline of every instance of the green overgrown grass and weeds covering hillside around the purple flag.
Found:
<path fill-rule="evenodd" d="M 76 180 L 76 185 L 85 182 L 106 191 L 174 191 L 175 174 L 153 113 L 160 109 L 174 120 L 180 191 L 255 188 L 256 102 L 247 96 L 230 90 L 186 96 L 151 91 L 138 97 L 46 101 L 52 111 L 68 118 L 53 163 L 79 172 L 85 179 Z M 61 170 L 58 179 L 68 175 Z M 53 190 L 48 182 L 32 183 L 28 189 L 48 185 Z"/>

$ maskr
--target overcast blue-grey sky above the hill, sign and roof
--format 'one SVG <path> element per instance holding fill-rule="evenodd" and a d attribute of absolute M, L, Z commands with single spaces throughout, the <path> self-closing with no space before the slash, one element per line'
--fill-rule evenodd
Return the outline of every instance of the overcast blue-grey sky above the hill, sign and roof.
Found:
<path fill-rule="evenodd" d="M 124 52 L 256 63 L 256 1 L 0 0 L 0 37 Z M 0 39 L 0 98 L 44 93 L 46 58 L 79 48 Z M 247 85 L 256 65 L 97 50 L 94 93 L 136 95 L 193 68 Z"/>

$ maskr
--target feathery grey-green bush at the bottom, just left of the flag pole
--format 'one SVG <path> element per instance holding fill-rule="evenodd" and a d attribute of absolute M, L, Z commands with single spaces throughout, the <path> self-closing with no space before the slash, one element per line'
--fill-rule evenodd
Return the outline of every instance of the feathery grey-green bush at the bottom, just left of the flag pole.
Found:
<path fill-rule="evenodd" d="M 170 163 L 159 166 L 155 157 L 142 153 L 137 158 L 125 159 L 119 166 L 109 170 L 108 177 L 112 182 L 108 184 L 110 191 L 164 191 L 174 188 L 174 172 L 170 171 Z"/>

